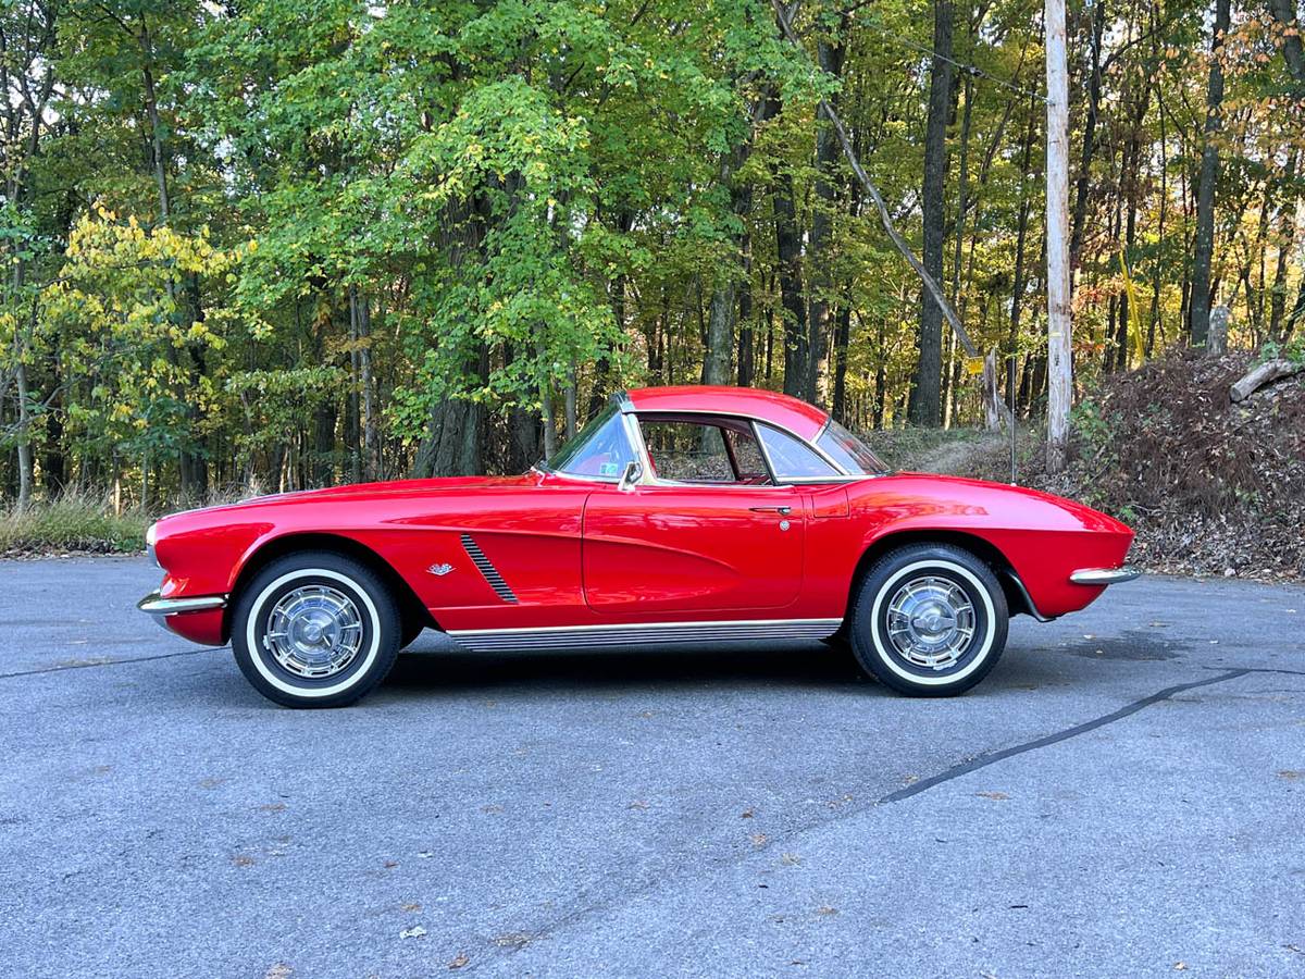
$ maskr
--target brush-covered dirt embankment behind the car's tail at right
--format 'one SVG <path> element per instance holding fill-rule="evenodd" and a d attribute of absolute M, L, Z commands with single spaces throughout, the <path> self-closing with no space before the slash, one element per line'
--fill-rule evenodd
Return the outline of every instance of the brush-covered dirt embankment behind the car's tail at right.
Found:
<path fill-rule="evenodd" d="M 1082 500 L 1138 531 L 1148 570 L 1305 577 L 1305 373 L 1233 405 L 1250 354 L 1178 354 L 1105 379 L 1075 409 L 1069 469 L 1021 437 L 1019 482 Z M 1009 479 L 1000 436 L 876 433 L 903 467 Z"/>

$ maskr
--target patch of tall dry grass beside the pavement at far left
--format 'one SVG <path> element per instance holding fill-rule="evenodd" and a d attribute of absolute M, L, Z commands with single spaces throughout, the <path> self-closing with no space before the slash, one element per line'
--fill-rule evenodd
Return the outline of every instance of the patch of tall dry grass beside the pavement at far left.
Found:
<path fill-rule="evenodd" d="M 0 553 L 140 552 L 145 550 L 149 525 L 149 516 L 141 510 L 119 516 L 107 500 L 69 492 L 33 503 L 21 513 L 0 509 Z"/>

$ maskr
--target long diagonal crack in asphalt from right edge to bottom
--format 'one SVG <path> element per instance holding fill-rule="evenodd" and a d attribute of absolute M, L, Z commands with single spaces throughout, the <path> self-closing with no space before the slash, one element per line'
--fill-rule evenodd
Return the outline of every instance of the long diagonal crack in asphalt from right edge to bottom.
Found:
<path fill-rule="evenodd" d="M 1201 687 L 1210 687 L 1212 684 L 1219 684 L 1219 683 L 1227 683 L 1228 680 L 1236 680 L 1237 677 L 1246 676 L 1254 672 L 1295 672 L 1295 671 L 1254 670 L 1249 667 L 1240 670 L 1225 670 L 1224 672 L 1219 674 L 1219 676 L 1211 676 L 1205 680 L 1193 680 L 1190 683 L 1180 683 L 1174 684 L 1173 687 L 1165 687 L 1163 691 L 1158 691 L 1156 693 L 1152 693 L 1148 697 L 1133 701 L 1131 704 L 1128 704 L 1120 707 L 1118 710 L 1111 711 L 1109 714 L 1103 714 L 1101 717 L 1094 718 L 1092 721 L 1084 721 L 1082 724 L 1074 724 L 1073 727 L 1067 727 L 1064 731 L 1057 731 L 1044 738 L 1037 738 L 1031 741 L 1024 741 L 1023 744 L 1017 744 L 1010 748 L 1004 748 L 1001 751 L 992 752 L 988 754 L 980 754 L 976 758 L 971 758 L 970 761 L 954 765 L 946 769 L 945 771 L 941 771 L 937 775 L 932 775 L 927 779 L 916 782 L 915 785 L 907 786 L 906 788 L 899 788 L 895 792 L 890 792 L 889 795 L 885 795 L 873 803 L 864 805 L 851 805 L 839 812 L 839 815 L 837 816 L 809 821 L 804 825 L 795 826 L 787 833 L 778 833 L 773 835 L 763 846 L 757 847 L 756 850 L 752 850 L 749 852 L 731 854 L 724 858 L 716 858 L 709 860 L 707 865 L 698 867 L 688 873 L 658 876 L 652 880 L 646 881 L 642 885 L 628 888 L 626 890 L 624 890 L 612 899 L 598 901 L 585 907 L 576 909 L 569 914 L 556 918 L 553 922 L 544 925 L 543 928 L 530 932 L 531 940 L 529 942 L 525 942 L 519 948 L 514 948 L 510 950 L 499 950 L 497 954 L 495 954 L 495 952 L 491 950 L 491 954 L 488 957 L 472 959 L 471 962 L 468 962 L 468 967 L 466 971 L 475 972 L 479 971 L 480 969 L 493 969 L 496 963 L 500 963 L 504 959 L 519 954 L 526 948 L 534 945 L 536 941 L 542 939 L 553 937 L 559 932 L 570 928 L 572 925 L 585 920 L 586 918 L 594 915 L 602 915 L 608 909 L 620 907 L 646 894 L 651 894 L 656 890 L 663 890 L 669 878 L 684 880 L 686 877 L 699 877 L 707 873 L 716 873 L 729 867 L 741 864 L 760 852 L 774 850 L 776 845 L 787 843 L 792 839 L 804 835 L 805 833 L 809 833 L 813 829 L 830 826 L 835 822 L 840 822 L 842 820 L 851 818 L 855 816 L 864 816 L 865 813 L 873 812 L 881 805 L 903 801 L 912 796 L 920 795 L 921 792 L 927 792 L 928 790 L 934 788 L 945 782 L 950 782 L 955 778 L 960 778 L 962 775 L 967 775 L 971 771 L 977 771 L 980 769 L 988 768 L 989 765 L 996 765 L 998 761 L 1005 761 L 1018 754 L 1024 754 L 1026 752 L 1037 751 L 1039 748 L 1047 748 L 1053 744 L 1058 744 L 1060 741 L 1069 740 L 1070 738 L 1077 738 L 1079 735 L 1088 734 L 1090 731 L 1095 731 L 1099 727 L 1105 727 L 1107 724 L 1112 724 L 1117 721 L 1122 721 L 1124 718 L 1131 717 L 1133 714 L 1137 714 L 1138 711 L 1144 710 L 1146 707 L 1150 707 L 1155 704 L 1171 700 L 1176 694 L 1184 693 L 1186 691 L 1193 691 Z"/>

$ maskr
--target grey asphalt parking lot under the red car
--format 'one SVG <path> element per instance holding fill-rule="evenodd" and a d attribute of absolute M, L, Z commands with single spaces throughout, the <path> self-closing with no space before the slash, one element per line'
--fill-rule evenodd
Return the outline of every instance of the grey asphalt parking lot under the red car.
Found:
<path fill-rule="evenodd" d="M 262 700 L 0 564 L 7 975 L 1305 975 L 1305 589 L 1143 578 L 920 701 L 822 645 Z"/>

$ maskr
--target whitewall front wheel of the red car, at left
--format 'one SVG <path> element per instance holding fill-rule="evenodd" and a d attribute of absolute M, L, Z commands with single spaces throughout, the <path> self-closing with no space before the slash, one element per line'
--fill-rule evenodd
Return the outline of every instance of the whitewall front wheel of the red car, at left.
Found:
<path fill-rule="evenodd" d="M 341 707 L 394 664 L 402 623 L 393 595 L 368 568 L 312 551 L 281 557 L 243 589 L 231 617 L 240 672 L 290 707 Z"/>

